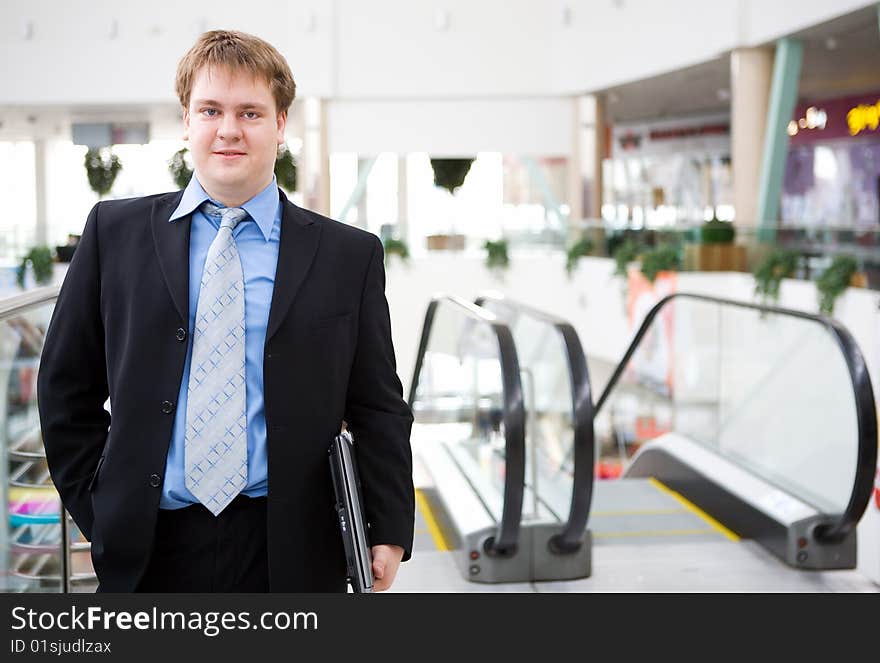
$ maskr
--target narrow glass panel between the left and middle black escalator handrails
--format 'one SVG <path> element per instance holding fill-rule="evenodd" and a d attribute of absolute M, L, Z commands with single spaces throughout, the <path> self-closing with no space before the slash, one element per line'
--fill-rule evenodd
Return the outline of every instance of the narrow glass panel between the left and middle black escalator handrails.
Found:
<path fill-rule="evenodd" d="M 561 332 L 515 304 L 487 299 L 483 308 L 510 327 L 526 409 L 526 500 L 523 518 L 564 520 L 571 506 L 574 426 L 571 373 Z"/>

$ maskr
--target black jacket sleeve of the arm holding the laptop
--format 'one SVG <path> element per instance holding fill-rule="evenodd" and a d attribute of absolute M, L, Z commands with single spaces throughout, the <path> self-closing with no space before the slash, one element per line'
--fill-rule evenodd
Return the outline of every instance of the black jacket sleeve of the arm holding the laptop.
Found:
<path fill-rule="evenodd" d="M 409 442 L 413 417 L 397 377 L 383 254 L 375 238 L 361 295 L 345 421 L 354 435 L 370 544 L 401 546 L 406 561 L 412 554 L 415 519 Z"/>

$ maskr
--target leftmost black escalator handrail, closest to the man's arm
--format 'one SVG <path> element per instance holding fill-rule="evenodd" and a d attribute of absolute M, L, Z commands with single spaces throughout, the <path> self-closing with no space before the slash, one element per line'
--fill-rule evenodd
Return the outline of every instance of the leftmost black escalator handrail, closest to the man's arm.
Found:
<path fill-rule="evenodd" d="M 526 476 L 525 410 L 519 375 L 519 360 L 513 342 L 513 334 L 510 333 L 510 328 L 499 321 L 496 316 L 470 302 L 453 296 L 434 297 L 428 304 L 425 322 L 422 325 L 422 337 L 419 341 L 419 351 L 416 356 L 413 379 L 410 383 L 410 408 L 415 403 L 416 389 L 431 336 L 434 314 L 441 303 L 451 304 L 470 319 L 490 326 L 498 341 L 504 397 L 504 501 L 501 522 L 495 536 L 486 542 L 485 552 L 490 555 L 511 556 L 516 552 L 519 544 Z"/>

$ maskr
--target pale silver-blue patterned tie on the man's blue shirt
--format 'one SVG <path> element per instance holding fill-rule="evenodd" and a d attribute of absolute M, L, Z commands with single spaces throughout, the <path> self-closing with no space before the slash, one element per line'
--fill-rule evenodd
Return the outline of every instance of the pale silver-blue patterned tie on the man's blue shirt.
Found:
<path fill-rule="evenodd" d="M 193 333 L 186 402 L 186 487 L 215 516 L 247 485 L 244 278 L 232 230 L 240 207 L 202 211 L 220 217 L 208 248 Z"/>

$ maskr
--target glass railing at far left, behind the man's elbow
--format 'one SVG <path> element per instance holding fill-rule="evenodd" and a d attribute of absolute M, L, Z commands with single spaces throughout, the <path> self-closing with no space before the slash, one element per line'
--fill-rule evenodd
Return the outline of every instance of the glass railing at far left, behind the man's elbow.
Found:
<path fill-rule="evenodd" d="M 37 370 L 58 288 L 0 302 L 0 591 L 89 591 L 89 543 L 61 508 L 37 411 Z M 63 517 L 62 517 L 63 514 Z"/>

